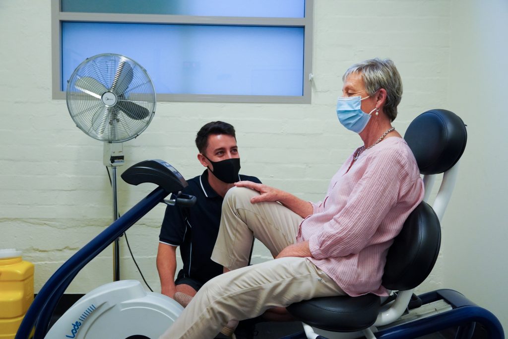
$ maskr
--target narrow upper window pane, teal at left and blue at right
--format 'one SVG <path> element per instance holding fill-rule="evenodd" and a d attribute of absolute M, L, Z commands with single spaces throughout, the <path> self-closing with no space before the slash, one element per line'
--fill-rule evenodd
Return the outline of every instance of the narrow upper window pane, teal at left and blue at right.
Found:
<path fill-rule="evenodd" d="M 303 18 L 305 0 L 62 0 L 62 12 Z"/>

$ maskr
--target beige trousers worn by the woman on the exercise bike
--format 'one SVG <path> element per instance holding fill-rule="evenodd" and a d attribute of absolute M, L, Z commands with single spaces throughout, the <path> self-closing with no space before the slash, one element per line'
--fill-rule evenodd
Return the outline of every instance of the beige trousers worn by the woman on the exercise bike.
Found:
<path fill-rule="evenodd" d="M 247 188 L 228 191 L 212 260 L 232 271 L 203 285 L 161 338 L 211 339 L 229 320 L 255 318 L 271 307 L 301 300 L 345 294 L 305 258 L 280 258 L 245 267 L 253 236 L 276 256 L 295 242 L 302 221 L 279 203 L 251 204 L 250 198 L 257 194 Z"/>

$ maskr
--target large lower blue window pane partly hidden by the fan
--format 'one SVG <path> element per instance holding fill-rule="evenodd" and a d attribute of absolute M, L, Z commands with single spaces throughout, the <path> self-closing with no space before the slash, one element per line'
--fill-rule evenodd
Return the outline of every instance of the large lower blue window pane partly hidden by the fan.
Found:
<path fill-rule="evenodd" d="M 303 95 L 303 27 L 62 22 L 61 34 L 64 91 L 84 59 L 116 53 L 157 93 Z"/>

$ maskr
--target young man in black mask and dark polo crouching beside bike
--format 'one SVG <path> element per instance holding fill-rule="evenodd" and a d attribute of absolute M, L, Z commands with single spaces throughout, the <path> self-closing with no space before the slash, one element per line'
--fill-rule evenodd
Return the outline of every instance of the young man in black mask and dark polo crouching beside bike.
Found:
<path fill-rule="evenodd" d="M 182 193 L 193 195 L 193 207 L 168 206 L 161 227 L 157 251 L 157 270 L 161 293 L 186 306 L 210 279 L 223 273 L 223 267 L 210 259 L 220 224 L 226 192 L 234 182 L 253 176 L 238 174 L 240 154 L 235 129 L 223 121 L 209 122 L 196 136 L 198 160 L 207 169 L 187 180 Z M 176 248 L 180 246 L 183 269 L 176 271 Z"/>

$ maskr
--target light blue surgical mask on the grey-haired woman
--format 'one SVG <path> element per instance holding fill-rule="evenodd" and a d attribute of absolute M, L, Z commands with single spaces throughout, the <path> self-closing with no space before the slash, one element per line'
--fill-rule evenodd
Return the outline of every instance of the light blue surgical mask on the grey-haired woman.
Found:
<path fill-rule="evenodd" d="M 363 99 L 367 99 L 365 97 Z M 346 129 L 361 133 L 367 122 L 369 122 L 371 113 L 376 110 L 374 107 L 369 114 L 362 111 L 362 97 L 338 98 L 337 99 L 337 117 L 340 123 Z"/>

